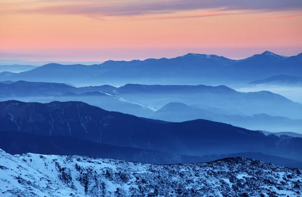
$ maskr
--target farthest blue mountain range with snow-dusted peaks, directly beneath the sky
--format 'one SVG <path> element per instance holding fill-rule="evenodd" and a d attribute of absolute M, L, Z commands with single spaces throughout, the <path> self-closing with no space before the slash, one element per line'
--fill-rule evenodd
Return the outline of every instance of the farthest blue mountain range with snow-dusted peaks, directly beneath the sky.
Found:
<path fill-rule="evenodd" d="M 21 73 L 0 73 L 0 80 L 71 83 L 78 86 L 126 83 L 238 84 L 273 75 L 302 77 L 301 54 L 284 57 L 266 51 L 242 60 L 193 54 L 171 59 L 109 60 L 95 65 L 46 64 Z"/>

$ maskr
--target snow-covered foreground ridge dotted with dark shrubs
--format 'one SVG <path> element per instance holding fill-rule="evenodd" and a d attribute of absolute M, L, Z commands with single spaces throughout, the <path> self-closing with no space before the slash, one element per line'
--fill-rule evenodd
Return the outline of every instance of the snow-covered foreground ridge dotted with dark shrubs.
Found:
<path fill-rule="evenodd" d="M 243 158 L 154 165 L 0 149 L 0 196 L 302 196 L 301 170 Z"/>

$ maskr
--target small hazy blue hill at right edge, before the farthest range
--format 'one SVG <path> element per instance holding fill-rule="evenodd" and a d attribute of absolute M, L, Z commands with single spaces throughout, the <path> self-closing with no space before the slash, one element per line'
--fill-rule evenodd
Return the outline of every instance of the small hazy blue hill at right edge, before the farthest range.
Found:
<path fill-rule="evenodd" d="M 269 84 L 269 85 L 302 85 L 302 77 L 277 75 L 263 80 L 249 82 L 248 84 Z"/>

